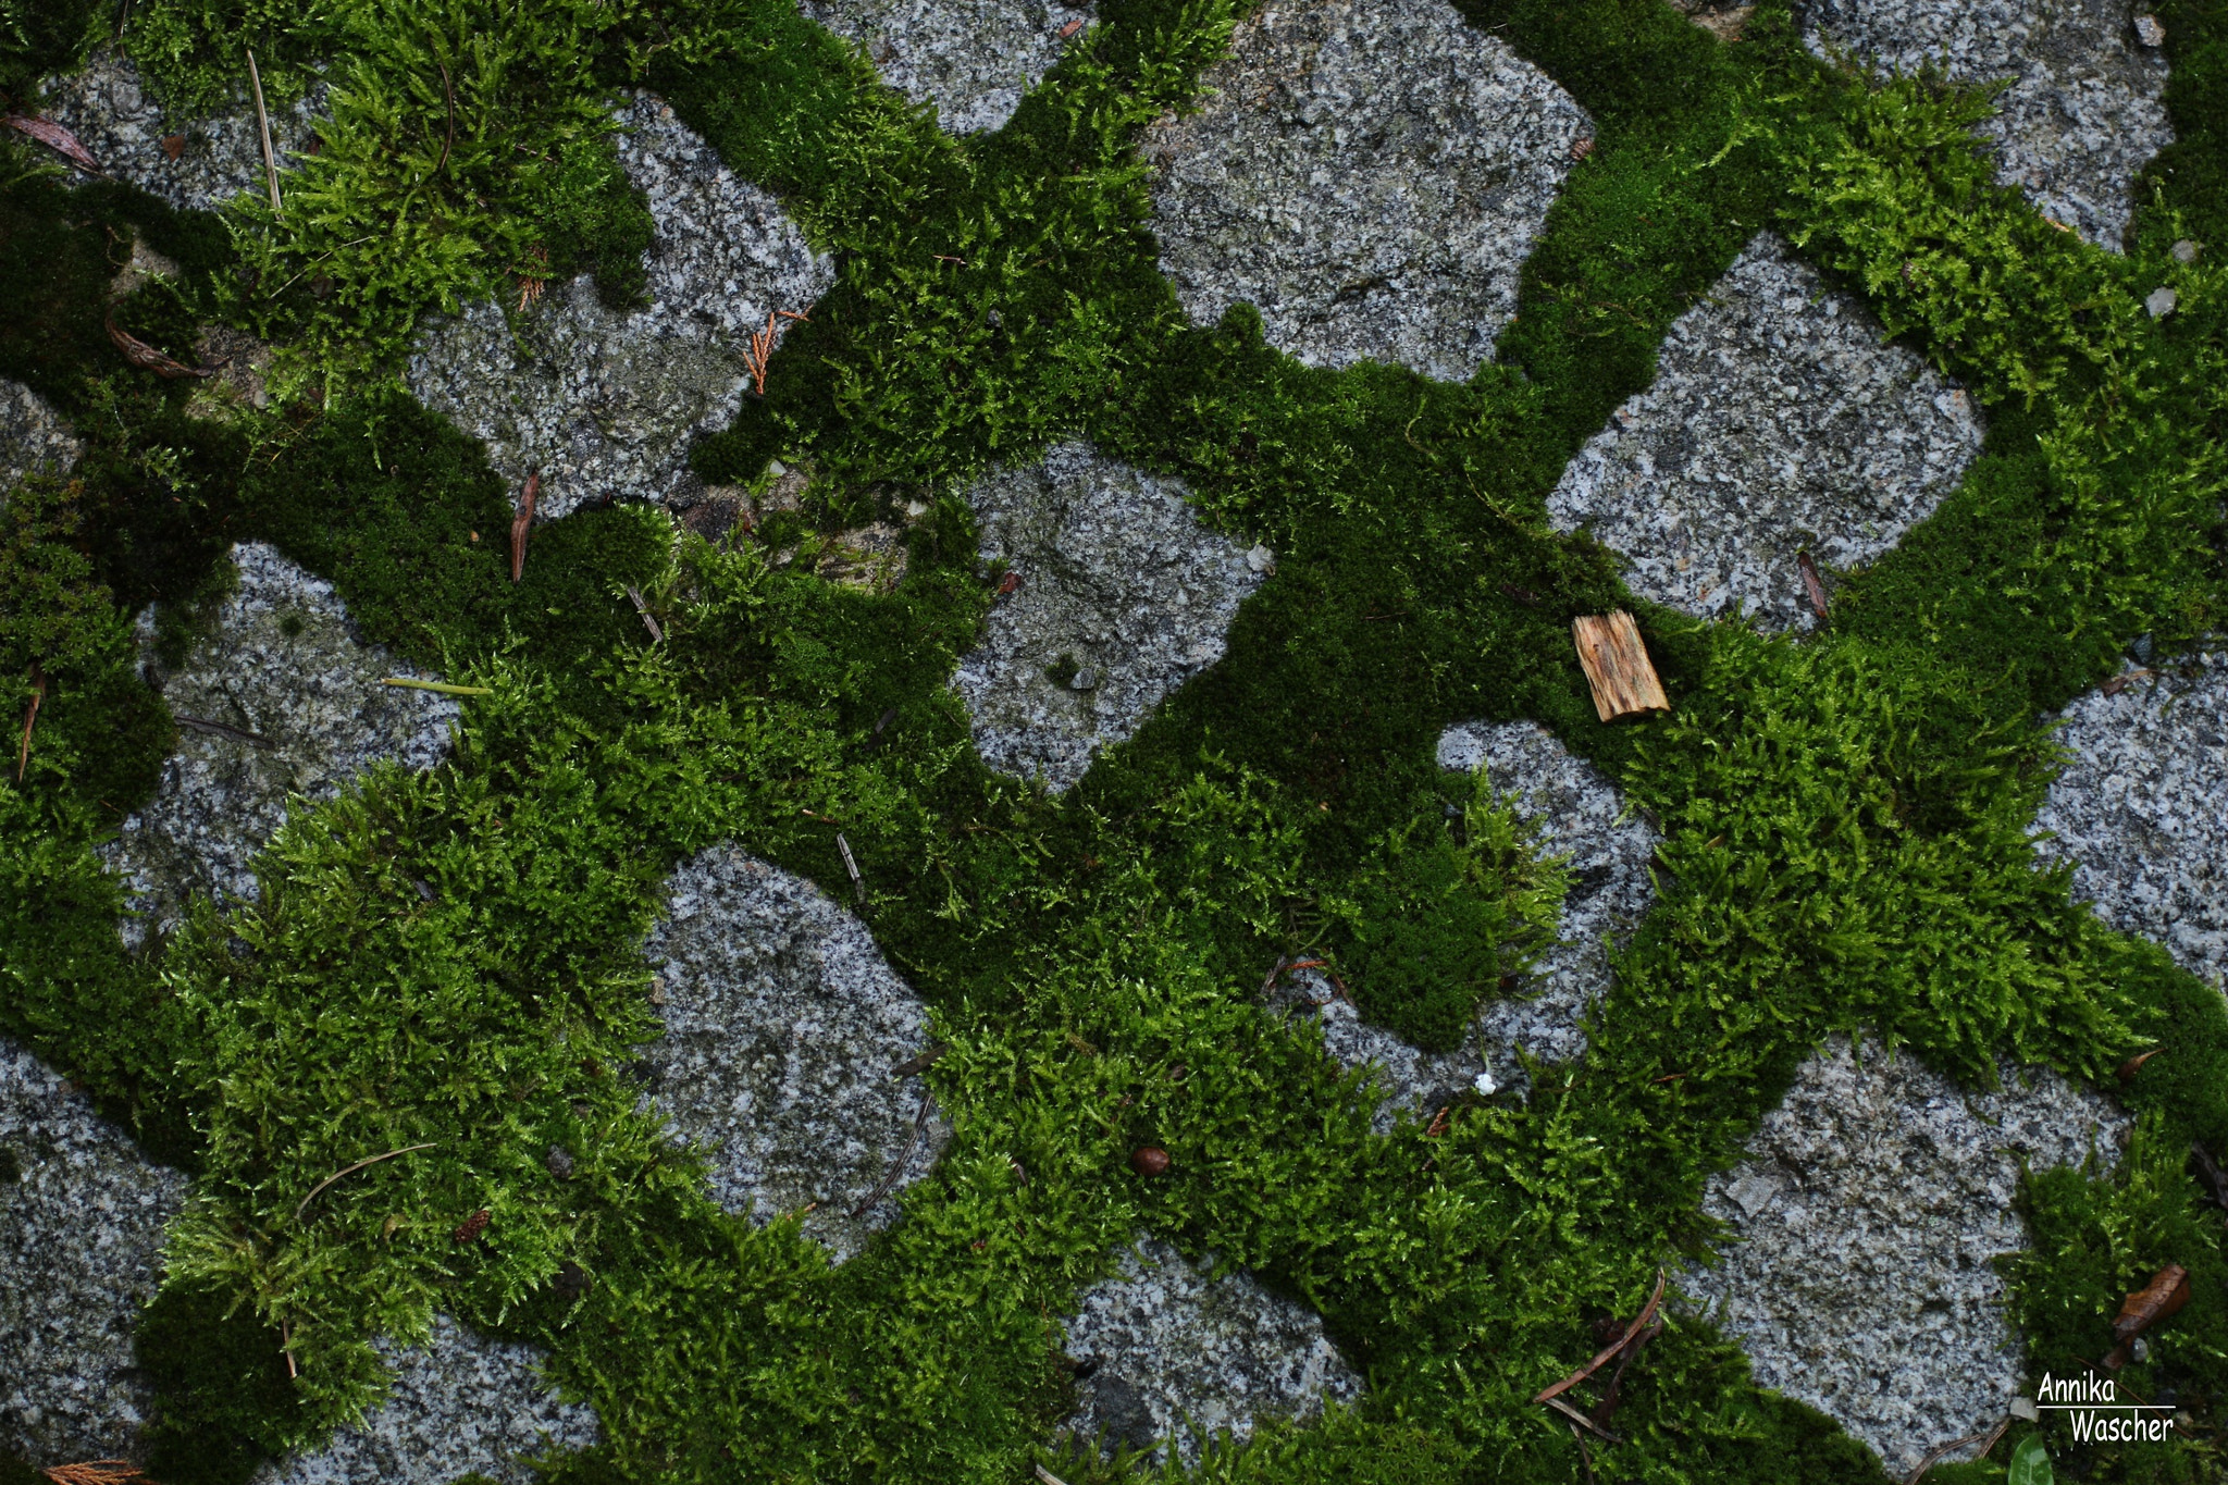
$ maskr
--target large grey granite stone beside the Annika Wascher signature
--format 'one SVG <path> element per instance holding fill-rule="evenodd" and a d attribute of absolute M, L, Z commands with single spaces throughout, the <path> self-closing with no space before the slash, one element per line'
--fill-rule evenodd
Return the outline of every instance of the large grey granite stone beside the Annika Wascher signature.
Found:
<path fill-rule="evenodd" d="M 1909 1053 L 1834 1037 L 1702 1198 L 1736 1242 L 1687 1291 L 1758 1383 L 1825 1412 L 1898 1476 L 1992 1427 L 2019 1391 L 1987 1260 L 2025 1245 L 2021 1158 L 2079 1164 L 2094 1138 L 2112 1164 L 2128 1140 L 2128 1115 L 2099 1093 L 2012 1064 L 2001 1078 L 1999 1093 L 1961 1093 Z"/>

